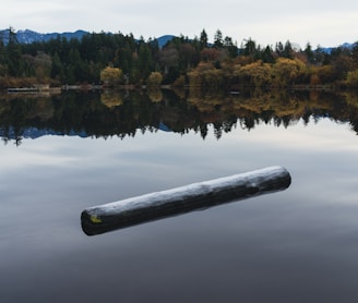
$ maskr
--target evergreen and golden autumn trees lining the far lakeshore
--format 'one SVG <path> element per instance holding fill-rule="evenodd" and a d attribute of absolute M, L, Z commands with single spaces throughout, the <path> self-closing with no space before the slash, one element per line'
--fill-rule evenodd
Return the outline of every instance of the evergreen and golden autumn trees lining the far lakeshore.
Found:
<path fill-rule="evenodd" d="M 262 47 L 251 38 L 240 47 L 217 29 L 214 43 L 199 37 L 135 39 L 93 33 L 82 39 L 19 44 L 13 28 L 0 37 L 0 86 L 105 84 L 201 87 L 358 87 L 358 41 L 351 48 L 305 49 L 290 41 Z"/>

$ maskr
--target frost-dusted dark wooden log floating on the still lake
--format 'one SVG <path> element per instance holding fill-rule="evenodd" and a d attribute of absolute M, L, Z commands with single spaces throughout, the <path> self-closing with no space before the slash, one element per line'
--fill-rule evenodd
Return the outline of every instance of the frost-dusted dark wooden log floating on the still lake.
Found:
<path fill-rule="evenodd" d="M 285 190 L 289 172 L 268 167 L 246 173 L 193 183 L 86 208 L 81 214 L 87 235 L 99 234 L 251 196 Z"/>

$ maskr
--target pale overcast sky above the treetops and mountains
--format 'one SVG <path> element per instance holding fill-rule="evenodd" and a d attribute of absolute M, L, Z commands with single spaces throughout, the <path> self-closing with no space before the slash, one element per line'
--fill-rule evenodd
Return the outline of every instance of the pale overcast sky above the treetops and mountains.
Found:
<path fill-rule="evenodd" d="M 287 0 L 11 0 L 0 11 L 0 28 L 39 33 L 132 33 L 134 37 L 166 34 L 210 40 L 216 29 L 238 46 L 248 38 L 274 46 L 290 40 L 305 48 L 334 47 L 358 40 L 358 1 Z"/>

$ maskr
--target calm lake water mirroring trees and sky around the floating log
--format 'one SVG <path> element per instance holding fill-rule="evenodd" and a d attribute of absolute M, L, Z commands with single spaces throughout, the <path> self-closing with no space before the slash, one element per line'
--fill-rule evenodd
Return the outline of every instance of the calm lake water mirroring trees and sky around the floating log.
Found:
<path fill-rule="evenodd" d="M 160 94 L 0 98 L 0 302 L 357 302 L 357 100 Z M 283 192 L 82 231 L 86 207 L 275 165 Z"/>

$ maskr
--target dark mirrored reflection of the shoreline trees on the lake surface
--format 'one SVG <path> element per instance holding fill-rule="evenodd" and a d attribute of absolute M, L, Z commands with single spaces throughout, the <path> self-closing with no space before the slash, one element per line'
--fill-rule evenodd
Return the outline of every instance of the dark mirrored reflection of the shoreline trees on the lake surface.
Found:
<path fill-rule="evenodd" d="M 358 132 L 357 94 L 326 92 L 130 90 L 62 93 L 53 96 L 0 96 L 0 135 L 4 143 L 46 134 L 91 137 L 134 136 L 158 130 L 217 138 L 232 128 L 261 123 L 289 126 L 329 117 Z"/>

